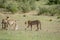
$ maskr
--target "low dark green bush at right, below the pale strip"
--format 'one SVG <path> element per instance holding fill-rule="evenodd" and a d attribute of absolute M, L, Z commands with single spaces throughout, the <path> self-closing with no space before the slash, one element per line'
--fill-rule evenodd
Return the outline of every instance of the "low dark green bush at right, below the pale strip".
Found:
<path fill-rule="evenodd" d="M 60 15 L 60 6 L 59 5 L 54 5 L 54 6 L 47 6 L 47 7 L 39 7 L 39 11 L 37 15 L 49 15 L 49 16 L 54 16 L 54 15 Z"/>

